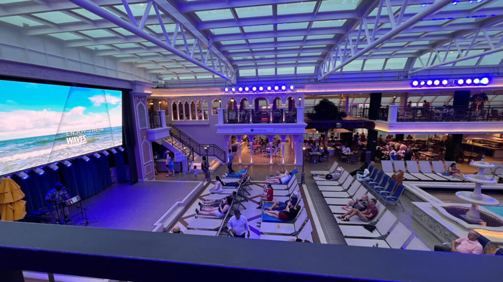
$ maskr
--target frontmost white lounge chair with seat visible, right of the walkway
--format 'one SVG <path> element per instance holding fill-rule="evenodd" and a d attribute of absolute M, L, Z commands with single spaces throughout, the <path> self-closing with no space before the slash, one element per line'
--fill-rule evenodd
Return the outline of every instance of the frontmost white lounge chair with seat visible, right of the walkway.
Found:
<path fill-rule="evenodd" d="M 398 222 L 398 224 L 391 230 L 389 235 L 384 240 L 373 240 L 373 239 L 354 239 L 346 238 L 346 243 L 350 246 L 361 246 L 361 247 L 373 247 L 377 246 L 380 248 L 393 248 L 399 249 L 407 241 L 407 239 L 412 235 L 410 231 L 403 223 Z"/>

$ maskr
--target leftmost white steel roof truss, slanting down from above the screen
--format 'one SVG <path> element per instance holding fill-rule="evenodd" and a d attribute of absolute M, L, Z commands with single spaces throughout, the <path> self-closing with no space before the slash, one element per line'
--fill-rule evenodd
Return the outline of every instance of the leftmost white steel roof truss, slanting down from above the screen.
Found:
<path fill-rule="evenodd" d="M 166 29 L 164 27 L 164 22 L 161 18 L 161 12 L 159 10 L 159 7 L 156 2 L 153 0 L 148 0 L 145 4 L 145 10 L 143 13 L 143 16 L 141 17 L 141 20 L 139 22 L 136 21 L 135 17 L 133 16 L 133 13 L 131 12 L 131 9 L 129 8 L 129 5 L 126 0 L 122 0 L 122 5 L 124 6 L 124 9 L 127 12 L 129 21 L 118 18 L 111 12 L 107 11 L 106 9 L 94 4 L 93 2 L 89 0 L 70 0 L 72 3 L 80 6 L 83 9 L 88 10 L 91 13 L 96 14 L 97 16 L 100 16 L 101 18 L 110 21 L 111 23 L 117 25 L 118 27 L 121 27 L 153 44 L 156 46 L 165 49 L 167 51 L 170 51 L 171 53 L 177 55 L 178 57 L 185 59 L 211 73 L 214 73 L 220 77 L 222 77 L 225 80 L 228 81 L 235 81 L 235 70 L 230 65 L 225 59 L 225 57 L 220 54 L 218 56 L 213 50 L 212 50 L 212 43 L 211 41 L 209 42 L 201 42 L 199 38 L 195 38 L 194 43 L 192 46 L 189 48 L 189 44 L 187 44 L 187 38 L 185 35 L 185 28 L 184 25 L 180 22 L 176 22 L 176 27 L 174 33 L 170 35 L 166 32 Z M 162 34 L 164 36 L 164 40 L 158 39 L 157 37 L 151 35 L 148 33 L 144 27 L 145 23 L 148 17 L 148 14 L 150 13 L 150 9 L 154 9 L 155 15 L 157 17 L 158 24 L 160 25 L 162 29 Z M 179 51 L 178 49 L 175 48 L 175 44 L 177 40 L 179 40 L 181 37 L 183 43 L 184 43 L 184 52 Z M 208 48 L 209 47 L 209 48 Z M 196 55 L 196 50 L 199 51 L 199 56 L 200 58 L 197 58 Z M 214 49 L 216 50 L 216 49 Z M 205 51 L 203 53 L 203 51 Z M 222 59 L 223 58 L 223 59 Z"/>

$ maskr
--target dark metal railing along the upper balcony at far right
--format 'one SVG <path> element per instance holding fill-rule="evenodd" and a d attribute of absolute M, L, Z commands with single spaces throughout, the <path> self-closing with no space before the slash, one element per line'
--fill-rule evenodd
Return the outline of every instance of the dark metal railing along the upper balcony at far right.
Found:
<path fill-rule="evenodd" d="M 398 107 L 397 122 L 439 122 L 439 121 L 502 121 L 503 106 L 486 106 L 470 109 L 467 106 L 452 107 L 444 111 L 443 107 L 426 110 L 424 107 Z"/>

